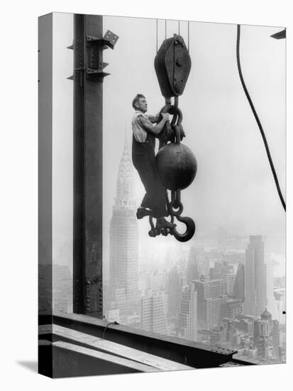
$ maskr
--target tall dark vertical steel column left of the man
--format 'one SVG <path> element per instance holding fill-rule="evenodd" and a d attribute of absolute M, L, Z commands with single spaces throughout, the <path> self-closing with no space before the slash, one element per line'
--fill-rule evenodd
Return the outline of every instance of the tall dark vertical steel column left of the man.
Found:
<path fill-rule="evenodd" d="M 87 36 L 102 37 L 102 29 L 102 16 L 74 15 L 73 311 L 98 318 L 102 317 L 103 83 L 87 75 Z"/>

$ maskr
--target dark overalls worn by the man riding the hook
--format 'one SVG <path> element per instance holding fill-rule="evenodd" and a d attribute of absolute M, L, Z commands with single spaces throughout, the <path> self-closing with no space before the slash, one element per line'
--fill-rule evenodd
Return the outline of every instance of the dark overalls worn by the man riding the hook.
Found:
<path fill-rule="evenodd" d="M 155 164 L 155 135 L 148 132 L 145 142 L 138 142 L 133 136 L 132 161 L 145 186 L 146 194 L 141 206 L 150 208 L 155 218 L 166 216 L 165 188 L 162 186 Z"/>

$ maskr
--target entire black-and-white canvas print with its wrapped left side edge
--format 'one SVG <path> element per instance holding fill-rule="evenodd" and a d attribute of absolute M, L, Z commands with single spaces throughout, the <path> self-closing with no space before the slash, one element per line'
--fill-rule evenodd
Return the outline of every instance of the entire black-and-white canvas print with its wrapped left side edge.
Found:
<path fill-rule="evenodd" d="M 286 363 L 286 28 L 41 16 L 41 114 L 46 23 L 40 373 Z"/>

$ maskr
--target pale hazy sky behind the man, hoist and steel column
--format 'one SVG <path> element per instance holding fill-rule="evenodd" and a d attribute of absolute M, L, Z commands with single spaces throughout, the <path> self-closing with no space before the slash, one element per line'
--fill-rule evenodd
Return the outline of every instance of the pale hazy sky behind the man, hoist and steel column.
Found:
<path fill-rule="evenodd" d="M 72 232 L 72 14 L 54 14 L 54 214 L 56 238 Z M 154 70 L 155 19 L 104 17 L 104 31 L 119 36 L 104 79 L 104 245 L 116 193 L 116 175 L 125 136 L 131 150 L 131 102 L 138 93 L 148 99 L 149 113 L 164 105 Z M 187 42 L 187 22 L 180 24 Z M 204 234 L 223 225 L 236 233 L 284 235 L 284 210 L 277 195 L 258 126 L 243 92 L 236 64 L 236 25 L 190 23 L 192 69 L 184 94 L 184 144 L 197 158 L 197 176 L 182 191 L 183 215 L 194 218 Z M 167 21 L 167 36 L 178 31 Z M 243 76 L 270 145 L 285 196 L 285 40 L 270 38 L 280 28 L 242 26 Z M 158 44 L 165 38 L 159 21 Z M 138 200 L 143 186 L 136 175 Z M 174 237 L 151 239 L 148 222 L 139 222 L 145 245 L 172 245 Z M 196 244 L 196 236 L 194 237 Z M 58 250 L 59 251 L 59 250 Z"/>

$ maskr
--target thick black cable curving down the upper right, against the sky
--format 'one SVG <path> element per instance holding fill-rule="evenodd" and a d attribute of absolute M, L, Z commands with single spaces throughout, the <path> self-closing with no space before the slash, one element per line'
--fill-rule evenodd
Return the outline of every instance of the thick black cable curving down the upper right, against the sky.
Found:
<path fill-rule="evenodd" d="M 237 25 L 237 46 L 236 46 L 238 73 L 239 73 L 239 76 L 240 76 L 240 80 L 241 80 L 241 84 L 242 84 L 243 90 L 244 90 L 245 95 L 246 95 L 246 97 L 248 99 L 250 108 L 252 109 L 253 114 L 255 116 L 255 120 L 258 123 L 258 127 L 260 129 L 260 134 L 262 135 L 263 144 L 265 144 L 265 151 L 267 152 L 267 159 L 269 159 L 270 168 L 272 170 L 272 175 L 274 176 L 274 179 L 275 179 L 275 184 L 276 184 L 276 187 L 277 187 L 277 193 L 279 194 L 279 197 L 280 197 L 281 203 L 283 205 L 283 208 L 286 211 L 286 203 L 284 202 L 282 191 L 280 189 L 279 181 L 278 181 L 278 178 L 277 178 L 277 173 L 275 171 L 275 166 L 272 163 L 272 157 L 270 156 L 270 149 L 269 149 L 269 146 L 267 144 L 267 139 L 266 139 L 266 136 L 265 136 L 265 132 L 262 129 L 262 124 L 260 123 L 260 119 L 258 118 L 258 114 L 255 111 L 255 107 L 253 105 L 253 101 L 250 98 L 249 92 L 248 92 L 248 90 L 246 88 L 246 85 L 245 85 L 245 82 L 244 82 L 244 79 L 243 79 L 242 70 L 241 70 L 241 63 L 240 63 L 240 54 L 239 54 L 240 33 L 241 33 L 241 26 L 240 26 L 240 24 L 238 24 Z"/>

